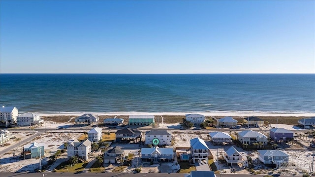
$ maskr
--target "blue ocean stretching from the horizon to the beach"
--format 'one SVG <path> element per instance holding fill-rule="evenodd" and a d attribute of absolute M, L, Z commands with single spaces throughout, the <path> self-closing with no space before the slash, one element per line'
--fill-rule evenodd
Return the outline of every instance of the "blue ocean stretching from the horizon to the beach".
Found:
<path fill-rule="evenodd" d="M 315 113 L 315 74 L 0 74 L 20 113 Z"/>

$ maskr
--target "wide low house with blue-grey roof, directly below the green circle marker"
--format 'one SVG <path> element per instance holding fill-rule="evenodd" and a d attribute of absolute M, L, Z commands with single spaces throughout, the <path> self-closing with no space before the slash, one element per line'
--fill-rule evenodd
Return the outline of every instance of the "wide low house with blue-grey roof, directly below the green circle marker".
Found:
<path fill-rule="evenodd" d="M 173 148 L 141 148 L 142 161 L 150 162 L 173 162 L 174 149 Z"/>

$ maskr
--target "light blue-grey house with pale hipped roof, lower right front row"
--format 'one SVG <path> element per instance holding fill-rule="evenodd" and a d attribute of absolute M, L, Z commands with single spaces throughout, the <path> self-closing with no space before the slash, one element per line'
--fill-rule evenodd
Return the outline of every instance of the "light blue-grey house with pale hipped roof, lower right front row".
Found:
<path fill-rule="evenodd" d="M 283 166 L 288 163 L 289 155 L 283 149 L 257 150 L 258 158 L 264 164 Z"/>

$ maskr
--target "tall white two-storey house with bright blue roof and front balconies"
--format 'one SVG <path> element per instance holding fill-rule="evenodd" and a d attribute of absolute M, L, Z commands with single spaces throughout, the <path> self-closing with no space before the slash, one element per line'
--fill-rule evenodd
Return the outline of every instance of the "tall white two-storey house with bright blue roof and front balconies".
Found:
<path fill-rule="evenodd" d="M 210 149 L 206 142 L 200 138 L 194 138 L 190 140 L 190 151 L 193 163 L 195 161 L 201 162 L 202 160 L 208 160 Z"/>

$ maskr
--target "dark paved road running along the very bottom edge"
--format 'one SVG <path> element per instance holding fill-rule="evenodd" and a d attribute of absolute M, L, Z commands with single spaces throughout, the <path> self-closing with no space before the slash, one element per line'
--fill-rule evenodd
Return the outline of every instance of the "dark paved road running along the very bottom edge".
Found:
<path fill-rule="evenodd" d="M 163 173 L 1 173 L 1 177 L 184 177 L 184 174 L 172 173 L 172 174 L 163 174 Z M 264 175 L 243 175 L 243 174 L 222 174 L 217 177 L 263 177 Z M 289 177 L 289 176 L 283 176 Z M 295 176 L 295 177 L 302 177 Z"/>

